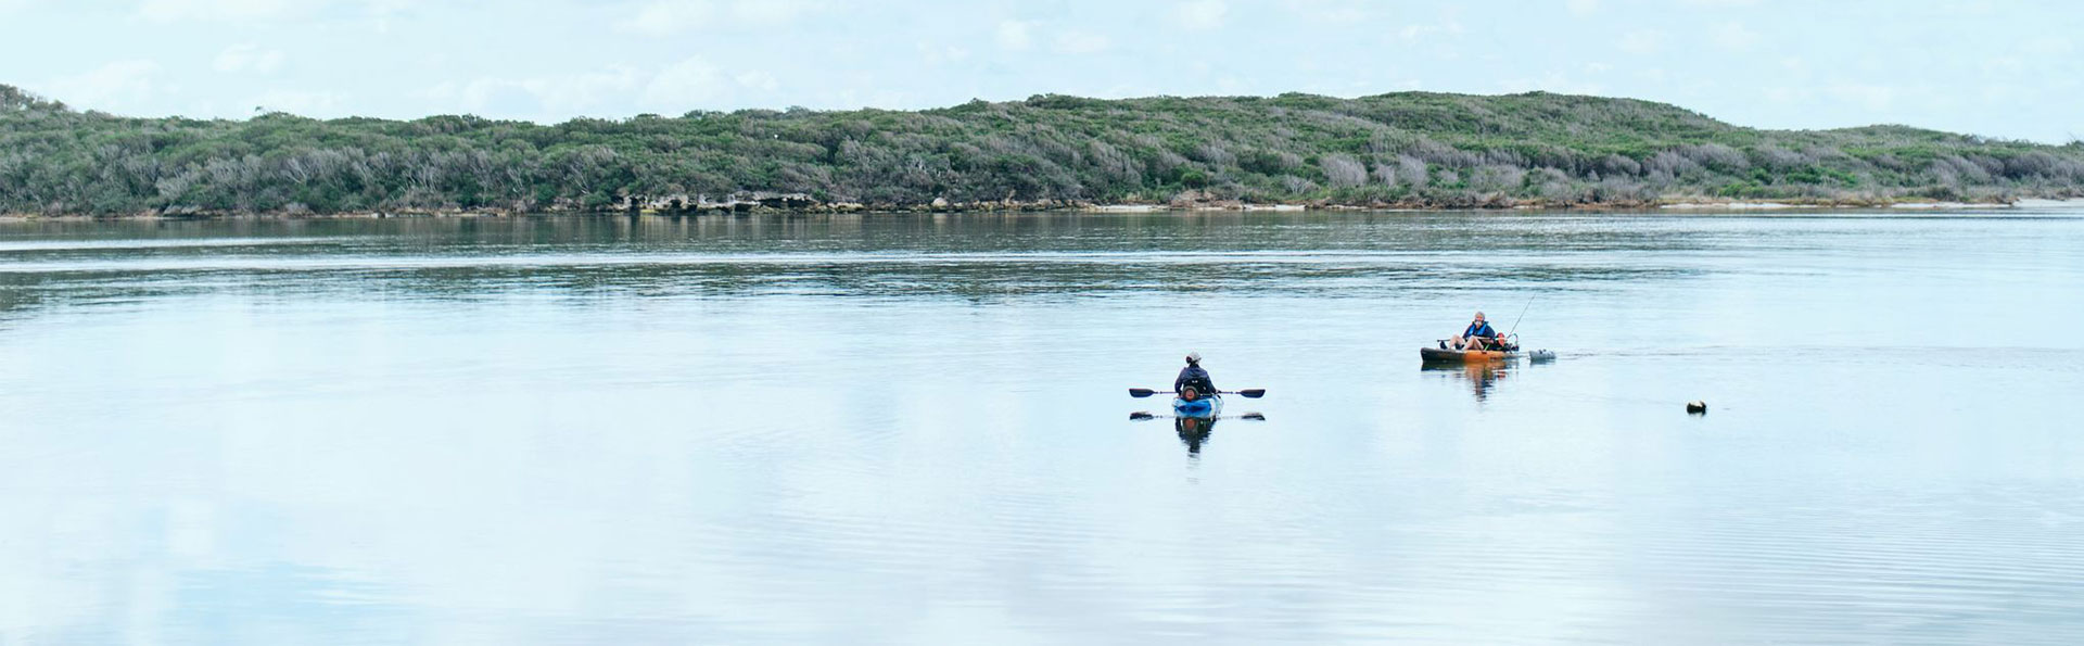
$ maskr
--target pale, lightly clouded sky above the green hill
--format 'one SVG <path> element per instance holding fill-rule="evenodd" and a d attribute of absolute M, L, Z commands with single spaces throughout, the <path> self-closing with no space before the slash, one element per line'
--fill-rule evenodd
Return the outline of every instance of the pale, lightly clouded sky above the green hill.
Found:
<path fill-rule="evenodd" d="M 0 83 L 117 115 L 684 115 L 1034 94 L 1563 92 L 1748 127 L 2084 138 L 2026 0 L 0 0 Z"/>

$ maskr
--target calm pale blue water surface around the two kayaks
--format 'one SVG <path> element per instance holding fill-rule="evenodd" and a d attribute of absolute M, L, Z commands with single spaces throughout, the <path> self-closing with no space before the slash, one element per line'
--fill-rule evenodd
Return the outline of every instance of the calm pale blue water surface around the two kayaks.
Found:
<path fill-rule="evenodd" d="M 0 223 L 0 644 L 2078 644 L 2078 319 L 2061 210 Z"/>

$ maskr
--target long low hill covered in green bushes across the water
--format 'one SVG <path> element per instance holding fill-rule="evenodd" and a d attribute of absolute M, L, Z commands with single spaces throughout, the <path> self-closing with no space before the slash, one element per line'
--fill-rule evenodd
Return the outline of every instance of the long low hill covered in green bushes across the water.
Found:
<path fill-rule="evenodd" d="M 77 113 L 0 85 L 0 213 L 604 210 L 819 202 L 1373 206 L 2084 196 L 2084 144 L 1878 125 L 1769 131 L 1592 96 L 1036 96 L 559 125 Z M 667 202 L 671 200 L 671 202 Z"/>

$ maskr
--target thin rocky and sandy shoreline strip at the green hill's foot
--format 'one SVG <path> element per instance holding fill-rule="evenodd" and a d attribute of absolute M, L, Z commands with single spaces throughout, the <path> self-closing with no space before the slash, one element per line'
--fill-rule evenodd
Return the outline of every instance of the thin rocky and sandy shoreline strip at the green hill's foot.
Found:
<path fill-rule="evenodd" d="M 975 215 L 975 213 L 1086 213 L 1086 215 L 1157 215 L 1157 213 L 1307 213 L 1307 210 L 1405 210 L 1405 213 L 1450 213 L 1450 210 L 1584 210 L 1584 213 L 1723 213 L 1723 210 L 1974 210 L 1974 208 L 2084 208 L 2084 198 L 2065 200 L 2013 200 L 2013 202 L 1932 202 L 1932 200 L 1659 200 L 1628 204 L 1542 204 L 1542 202 L 1492 202 L 1492 204 L 1334 204 L 1334 202 L 1292 202 L 1292 204 L 1242 204 L 1242 202 L 1194 202 L 1194 204 L 1094 204 L 1094 202 L 934 202 L 934 204 L 711 204 L 696 208 L 411 208 L 411 210 L 354 210 L 354 213 L 131 213 L 131 215 L 46 215 L 46 213 L 0 213 L 0 221 L 213 221 L 213 219 L 465 219 L 465 217 L 531 217 L 531 215 L 650 215 L 650 217 L 717 217 L 717 215 L 848 215 L 848 213 L 911 213 L 911 215 Z"/>

